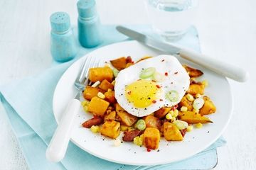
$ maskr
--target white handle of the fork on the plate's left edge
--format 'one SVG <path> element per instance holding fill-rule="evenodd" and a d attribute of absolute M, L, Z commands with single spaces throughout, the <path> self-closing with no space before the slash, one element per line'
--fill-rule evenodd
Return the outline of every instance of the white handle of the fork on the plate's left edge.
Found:
<path fill-rule="evenodd" d="M 46 158 L 50 162 L 60 162 L 65 156 L 68 142 L 70 141 L 70 136 L 73 131 L 75 115 L 77 115 L 80 105 L 80 101 L 74 98 L 70 101 L 65 113 L 60 119 L 58 128 L 55 130 L 54 135 L 50 140 L 50 145 L 48 145 L 48 148 L 46 149 Z"/>

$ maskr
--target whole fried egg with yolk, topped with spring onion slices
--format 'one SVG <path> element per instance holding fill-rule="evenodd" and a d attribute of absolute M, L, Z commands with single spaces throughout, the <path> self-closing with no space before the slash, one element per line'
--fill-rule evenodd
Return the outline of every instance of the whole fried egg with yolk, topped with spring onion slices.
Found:
<path fill-rule="evenodd" d="M 176 105 L 190 84 L 186 69 L 172 55 L 142 60 L 120 71 L 115 80 L 117 102 L 137 117 Z"/>

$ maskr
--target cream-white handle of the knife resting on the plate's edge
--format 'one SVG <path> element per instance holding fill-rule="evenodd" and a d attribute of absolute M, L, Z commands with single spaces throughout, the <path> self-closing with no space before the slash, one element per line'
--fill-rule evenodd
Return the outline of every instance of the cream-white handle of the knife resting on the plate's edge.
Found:
<path fill-rule="evenodd" d="M 213 57 L 202 55 L 192 50 L 182 49 L 179 52 L 179 55 L 183 59 L 199 64 L 212 70 L 213 72 L 221 74 L 224 77 L 228 77 L 235 81 L 245 82 L 249 78 L 249 73 L 245 71 L 245 69 L 222 62 L 220 60 L 216 60 Z"/>

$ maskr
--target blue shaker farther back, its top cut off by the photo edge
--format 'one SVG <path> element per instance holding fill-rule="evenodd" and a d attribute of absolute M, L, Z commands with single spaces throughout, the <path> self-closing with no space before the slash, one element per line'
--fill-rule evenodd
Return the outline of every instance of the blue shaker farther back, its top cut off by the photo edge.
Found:
<path fill-rule="evenodd" d="M 82 47 L 95 47 L 102 40 L 100 18 L 95 0 L 80 0 L 78 7 L 78 39 Z"/>

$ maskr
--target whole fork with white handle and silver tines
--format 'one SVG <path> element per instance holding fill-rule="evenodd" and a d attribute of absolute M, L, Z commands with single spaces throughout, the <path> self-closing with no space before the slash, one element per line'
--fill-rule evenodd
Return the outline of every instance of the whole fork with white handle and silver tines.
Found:
<path fill-rule="evenodd" d="M 75 98 L 70 101 L 68 107 L 65 109 L 63 116 L 58 124 L 58 128 L 55 130 L 52 139 L 50 140 L 50 145 L 46 149 L 46 158 L 50 162 L 60 162 L 63 157 L 65 157 L 65 152 L 68 148 L 68 142 L 70 141 L 70 136 L 73 131 L 73 123 L 75 120 L 75 115 L 77 115 L 80 108 L 80 96 L 82 90 L 85 89 L 85 85 L 88 84 L 88 72 L 91 67 L 96 65 L 95 58 L 87 56 L 85 63 L 82 65 L 80 74 L 78 74 L 77 79 L 75 79 L 75 87 L 78 89 L 78 94 Z"/>

